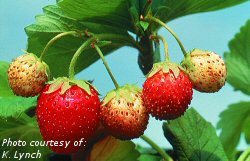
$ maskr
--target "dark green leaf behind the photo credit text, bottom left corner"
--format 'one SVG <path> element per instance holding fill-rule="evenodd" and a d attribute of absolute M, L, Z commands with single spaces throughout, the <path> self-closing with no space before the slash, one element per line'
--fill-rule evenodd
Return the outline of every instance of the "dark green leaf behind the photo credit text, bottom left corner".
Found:
<path fill-rule="evenodd" d="M 41 158 L 36 158 L 36 161 L 46 160 L 50 150 L 46 146 L 30 146 L 31 141 L 42 141 L 39 128 L 36 124 L 35 118 L 30 118 L 29 116 L 23 114 L 17 118 L 0 118 L 0 153 L 3 154 L 4 151 L 8 152 L 8 157 L 1 158 L 1 161 L 15 160 L 13 157 L 15 152 L 17 153 L 36 153 L 39 150 L 41 153 Z M 10 141 L 25 141 L 26 146 L 8 146 L 7 143 L 3 144 L 4 139 L 10 139 Z M 10 145 L 10 144 L 9 144 Z M 18 159 L 17 159 L 18 160 Z M 33 161 L 32 158 L 22 158 L 22 160 Z"/>

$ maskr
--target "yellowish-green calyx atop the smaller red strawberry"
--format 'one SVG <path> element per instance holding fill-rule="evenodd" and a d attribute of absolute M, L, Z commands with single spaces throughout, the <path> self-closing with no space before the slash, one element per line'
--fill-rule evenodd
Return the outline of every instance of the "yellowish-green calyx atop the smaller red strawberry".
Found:
<path fill-rule="evenodd" d="M 160 63 L 155 63 L 153 65 L 153 68 L 151 69 L 151 71 L 147 75 L 147 78 L 152 77 L 160 70 L 162 70 L 164 73 L 168 73 L 171 70 L 174 73 L 174 76 L 178 77 L 180 74 L 180 69 L 183 70 L 183 68 L 179 64 L 176 64 L 176 63 L 170 63 L 170 62 L 166 62 L 166 61 L 160 62 Z"/>

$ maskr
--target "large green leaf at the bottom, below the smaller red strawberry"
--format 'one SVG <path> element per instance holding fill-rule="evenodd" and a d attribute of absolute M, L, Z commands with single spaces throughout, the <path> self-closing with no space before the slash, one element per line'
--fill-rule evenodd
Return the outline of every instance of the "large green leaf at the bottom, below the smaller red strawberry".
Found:
<path fill-rule="evenodd" d="M 163 130 L 179 161 L 228 160 L 214 127 L 193 108 L 165 122 Z"/>

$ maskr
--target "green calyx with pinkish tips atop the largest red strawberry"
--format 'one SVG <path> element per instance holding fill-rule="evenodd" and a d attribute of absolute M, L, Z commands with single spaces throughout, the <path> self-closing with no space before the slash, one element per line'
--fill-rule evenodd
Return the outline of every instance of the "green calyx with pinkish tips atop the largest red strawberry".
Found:
<path fill-rule="evenodd" d="M 60 77 L 50 81 L 48 84 L 51 84 L 46 94 L 53 93 L 61 88 L 60 94 L 64 94 L 68 89 L 73 85 L 77 85 L 78 87 L 84 89 L 89 95 L 92 95 L 90 91 L 91 84 L 85 80 L 75 80 L 69 79 L 67 77 Z"/>

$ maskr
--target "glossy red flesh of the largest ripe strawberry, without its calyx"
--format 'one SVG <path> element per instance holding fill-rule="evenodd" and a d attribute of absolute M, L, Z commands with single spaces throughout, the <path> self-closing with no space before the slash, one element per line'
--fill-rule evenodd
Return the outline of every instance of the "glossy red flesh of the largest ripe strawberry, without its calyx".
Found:
<path fill-rule="evenodd" d="M 100 100 L 98 93 L 90 87 L 92 95 L 74 85 L 64 94 L 60 90 L 46 94 L 50 85 L 38 98 L 36 109 L 40 132 L 45 141 L 71 141 L 68 148 L 50 147 L 61 154 L 75 153 L 86 146 L 99 124 Z M 82 147 L 74 146 L 74 141 L 84 138 Z"/>

